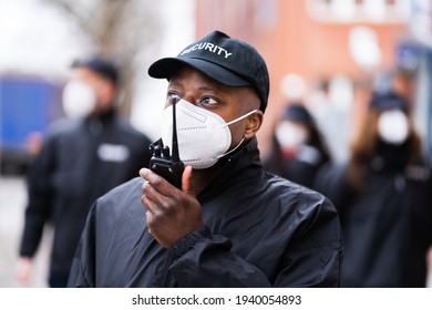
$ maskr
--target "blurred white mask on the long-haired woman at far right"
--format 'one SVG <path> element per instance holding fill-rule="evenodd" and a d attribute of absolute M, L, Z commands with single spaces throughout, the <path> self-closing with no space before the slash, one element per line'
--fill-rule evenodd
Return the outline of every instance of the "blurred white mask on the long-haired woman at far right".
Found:
<path fill-rule="evenodd" d="M 390 110 L 381 113 L 378 120 L 378 134 L 383 142 L 400 145 L 409 135 L 407 115 L 400 110 Z"/>

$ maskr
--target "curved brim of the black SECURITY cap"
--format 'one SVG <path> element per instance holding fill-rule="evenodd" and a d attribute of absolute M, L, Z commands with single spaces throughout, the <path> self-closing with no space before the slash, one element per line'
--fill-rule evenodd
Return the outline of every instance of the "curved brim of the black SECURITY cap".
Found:
<path fill-rule="evenodd" d="M 148 68 L 148 75 L 156 79 L 167 79 L 177 71 L 181 65 L 192 66 L 204 75 L 219 82 L 220 84 L 228 86 L 246 86 L 250 85 L 250 82 L 241 76 L 233 73 L 232 71 L 220 66 L 216 63 L 204 61 L 200 59 L 177 59 L 177 58 L 164 58 L 154 62 Z"/>

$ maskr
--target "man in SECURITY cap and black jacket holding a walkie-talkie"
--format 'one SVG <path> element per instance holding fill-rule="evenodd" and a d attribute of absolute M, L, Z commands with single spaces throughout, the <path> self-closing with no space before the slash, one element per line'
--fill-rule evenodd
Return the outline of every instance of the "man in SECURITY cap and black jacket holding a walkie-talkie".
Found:
<path fill-rule="evenodd" d="M 168 80 L 152 169 L 95 202 L 69 286 L 337 287 L 335 207 L 260 164 L 269 78 L 257 50 L 213 31 L 148 74 Z M 154 164 L 173 148 L 174 111 L 178 187 Z"/>

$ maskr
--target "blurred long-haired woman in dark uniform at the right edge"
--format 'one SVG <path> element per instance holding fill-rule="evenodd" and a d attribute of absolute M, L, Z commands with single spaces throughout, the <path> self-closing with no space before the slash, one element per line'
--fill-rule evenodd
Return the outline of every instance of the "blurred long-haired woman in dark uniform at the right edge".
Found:
<path fill-rule="evenodd" d="M 348 163 L 318 176 L 341 217 L 342 287 L 426 285 L 431 170 L 410 116 L 399 93 L 374 93 Z"/>

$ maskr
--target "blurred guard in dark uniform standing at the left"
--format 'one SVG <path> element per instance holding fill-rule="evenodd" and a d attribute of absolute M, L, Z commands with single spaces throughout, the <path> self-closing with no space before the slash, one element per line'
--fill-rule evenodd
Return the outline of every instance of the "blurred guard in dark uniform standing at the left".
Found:
<path fill-rule="evenodd" d="M 92 56 L 72 64 L 63 90 L 68 120 L 52 124 L 28 174 L 28 206 L 18 280 L 28 285 L 45 224 L 54 229 L 50 287 L 65 287 L 74 250 L 93 200 L 138 175 L 151 141 L 116 111 L 120 91 L 114 62 Z"/>

